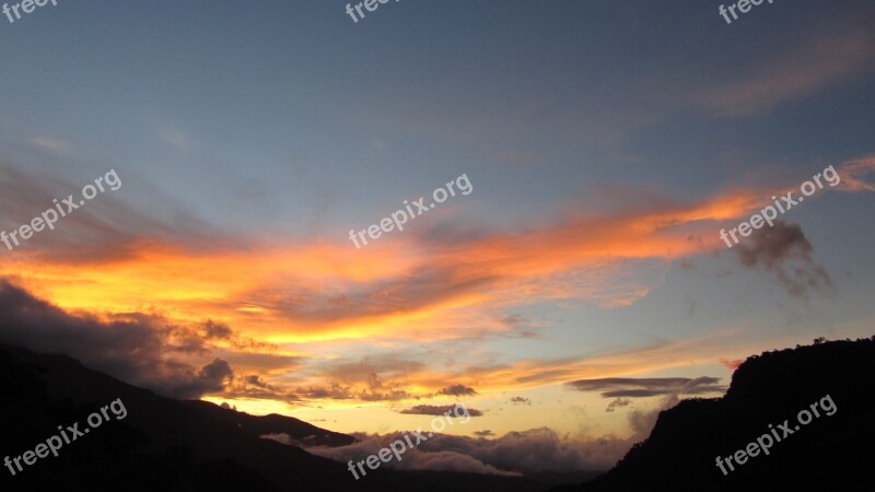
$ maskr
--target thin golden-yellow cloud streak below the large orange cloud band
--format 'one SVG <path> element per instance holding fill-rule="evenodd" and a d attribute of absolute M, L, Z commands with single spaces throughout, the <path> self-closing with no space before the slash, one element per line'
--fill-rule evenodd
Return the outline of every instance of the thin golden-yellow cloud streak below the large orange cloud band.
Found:
<path fill-rule="evenodd" d="M 679 365 L 677 361 L 707 364 L 725 353 L 725 343 L 736 333 L 711 333 L 690 340 L 656 342 L 621 352 L 571 356 L 565 359 L 532 359 L 498 363 L 474 359 L 467 363 L 452 361 L 457 347 L 470 343 L 459 340 L 430 345 L 420 350 L 402 345 L 397 351 L 377 352 L 358 362 L 345 359 L 306 361 L 294 375 L 277 379 L 278 385 L 290 389 L 294 400 L 342 401 L 429 401 L 438 395 L 446 380 L 476 380 L 490 389 L 516 391 L 523 388 L 564 383 L 575 377 L 604 377 L 617 373 L 657 371 Z M 343 353 L 355 342 L 345 342 L 338 351 Z M 752 350 L 752 349 L 751 349 Z M 228 359 L 224 356 L 224 359 Z M 228 359 L 235 367 L 237 363 Z M 424 365 L 422 361 L 430 361 Z M 280 383 L 281 380 L 281 383 Z M 424 390 L 423 388 L 434 388 Z M 509 405 L 533 405 L 522 396 L 510 394 Z M 416 403 L 410 403 L 416 405 Z M 401 408 L 409 408 L 408 406 Z"/>

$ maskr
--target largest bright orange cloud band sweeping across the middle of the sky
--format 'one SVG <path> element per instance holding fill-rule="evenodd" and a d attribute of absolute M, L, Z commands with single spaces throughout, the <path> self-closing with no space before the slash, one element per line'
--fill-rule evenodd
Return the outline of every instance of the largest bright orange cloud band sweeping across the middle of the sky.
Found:
<path fill-rule="evenodd" d="M 840 167 L 845 189 L 870 189 L 858 177 L 872 162 Z M 124 255 L 82 259 L 23 249 L 0 262 L 0 276 L 65 309 L 211 318 L 270 342 L 454 338 L 509 330 L 488 313 L 533 301 L 631 304 L 662 281 L 661 265 L 718 247 L 721 221 L 748 216 L 769 194 L 748 188 L 692 203 L 652 199 L 440 247 L 411 232 L 361 250 L 326 239 L 220 241 L 203 250 L 156 238 L 127 241 Z M 642 274 L 646 266 L 650 276 Z"/>

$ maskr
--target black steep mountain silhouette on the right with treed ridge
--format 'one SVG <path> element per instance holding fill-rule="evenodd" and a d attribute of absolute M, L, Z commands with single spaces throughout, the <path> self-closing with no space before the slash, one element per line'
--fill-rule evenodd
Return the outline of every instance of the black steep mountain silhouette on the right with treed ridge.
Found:
<path fill-rule="evenodd" d="M 875 337 L 751 356 L 724 397 L 663 411 L 614 469 L 553 491 L 875 490 L 874 375 Z"/>

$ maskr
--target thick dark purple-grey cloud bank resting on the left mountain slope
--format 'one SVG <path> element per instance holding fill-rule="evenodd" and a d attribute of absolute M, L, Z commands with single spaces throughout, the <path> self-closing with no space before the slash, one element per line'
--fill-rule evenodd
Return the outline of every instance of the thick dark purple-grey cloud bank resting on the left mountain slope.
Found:
<path fill-rule="evenodd" d="M 66 353 L 89 367 L 177 398 L 222 391 L 233 376 L 220 359 L 198 368 L 173 356 L 208 351 L 198 328 L 177 327 L 162 318 L 115 315 L 102 321 L 70 315 L 0 280 L 0 341 L 39 352 Z"/>

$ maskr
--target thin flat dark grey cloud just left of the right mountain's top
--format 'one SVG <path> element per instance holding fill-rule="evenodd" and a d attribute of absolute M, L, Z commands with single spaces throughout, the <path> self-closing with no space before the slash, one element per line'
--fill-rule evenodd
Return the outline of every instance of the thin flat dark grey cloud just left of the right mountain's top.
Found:
<path fill-rule="evenodd" d="M 607 377 L 603 379 L 579 379 L 565 383 L 579 391 L 599 391 L 605 398 L 642 398 L 652 396 L 701 395 L 723 393 L 718 377 Z"/>

